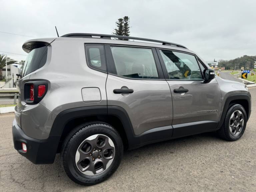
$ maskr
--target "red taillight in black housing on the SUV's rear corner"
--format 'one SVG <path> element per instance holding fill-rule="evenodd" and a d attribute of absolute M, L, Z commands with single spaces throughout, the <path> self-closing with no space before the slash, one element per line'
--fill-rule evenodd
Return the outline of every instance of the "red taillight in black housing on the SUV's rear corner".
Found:
<path fill-rule="evenodd" d="M 39 103 L 45 96 L 48 82 L 45 80 L 29 81 L 24 85 L 24 100 L 28 104 Z"/>

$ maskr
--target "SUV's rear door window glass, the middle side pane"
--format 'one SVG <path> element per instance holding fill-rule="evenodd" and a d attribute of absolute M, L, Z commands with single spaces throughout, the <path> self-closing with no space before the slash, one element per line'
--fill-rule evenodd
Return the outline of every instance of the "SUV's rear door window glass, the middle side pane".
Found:
<path fill-rule="evenodd" d="M 156 63 L 151 49 L 111 47 L 116 74 L 139 79 L 158 79 Z"/>

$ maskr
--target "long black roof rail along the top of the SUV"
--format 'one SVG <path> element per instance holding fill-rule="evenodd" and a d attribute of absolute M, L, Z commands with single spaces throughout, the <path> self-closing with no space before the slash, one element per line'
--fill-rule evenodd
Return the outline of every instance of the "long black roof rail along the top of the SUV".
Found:
<path fill-rule="evenodd" d="M 102 38 L 102 39 L 111 39 L 111 37 L 113 37 L 113 38 L 120 38 L 120 39 L 135 39 L 135 40 L 141 40 L 141 41 L 157 42 L 157 43 L 162 43 L 162 45 L 168 45 L 168 46 L 174 46 L 174 47 L 187 49 L 187 47 L 180 45 L 180 44 L 176 44 L 176 43 L 159 41 L 159 40 L 155 40 L 155 39 L 121 36 L 121 35 L 105 35 L 105 34 L 93 34 L 93 33 L 69 33 L 66 35 L 62 35 L 61 37 Z"/>

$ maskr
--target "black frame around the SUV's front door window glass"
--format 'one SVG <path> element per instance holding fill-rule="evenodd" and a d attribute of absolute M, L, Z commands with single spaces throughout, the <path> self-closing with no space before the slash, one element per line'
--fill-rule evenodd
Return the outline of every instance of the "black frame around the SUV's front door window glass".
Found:
<path fill-rule="evenodd" d="M 201 71 L 201 74 L 202 74 L 202 79 L 170 79 L 169 78 L 169 75 L 168 75 L 168 72 L 167 72 L 167 69 L 165 67 L 165 64 L 164 64 L 164 60 L 162 58 L 162 55 L 160 53 L 160 50 L 167 50 L 167 51 L 175 51 L 175 52 L 180 52 L 180 53 L 185 53 L 185 54 L 189 54 L 189 55 L 193 55 L 195 56 L 196 58 L 196 61 L 197 61 L 197 65 Z M 200 68 L 200 65 L 198 63 L 198 60 L 197 60 L 197 56 L 196 54 L 193 54 L 193 53 L 189 53 L 189 52 L 186 52 L 186 51 L 180 51 L 180 50 L 175 50 L 175 49 L 162 49 L 162 48 L 156 48 L 156 52 L 157 52 L 157 55 L 159 57 L 159 60 L 160 60 L 160 63 L 161 63 L 161 66 L 162 66 L 162 69 L 163 69 L 163 73 L 164 73 L 164 77 L 165 77 L 165 80 L 166 81 L 204 81 L 204 76 L 203 76 L 203 72 L 202 72 L 202 69 Z"/>

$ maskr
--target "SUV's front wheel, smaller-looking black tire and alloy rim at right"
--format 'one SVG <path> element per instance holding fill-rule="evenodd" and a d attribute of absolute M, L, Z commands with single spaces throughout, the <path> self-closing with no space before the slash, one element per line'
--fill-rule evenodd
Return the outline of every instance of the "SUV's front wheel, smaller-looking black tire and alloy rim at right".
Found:
<path fill-rule="evenodd" d="M 241 116 L 243 122 L 240 121 Z M 234 104 L 228 109 L 223 125 L 218 130 L 218 135 L 224 140 L 236 141 L 244 134 L 246 123 L 247 116 L 244 107 L 240 104 Z"/>

